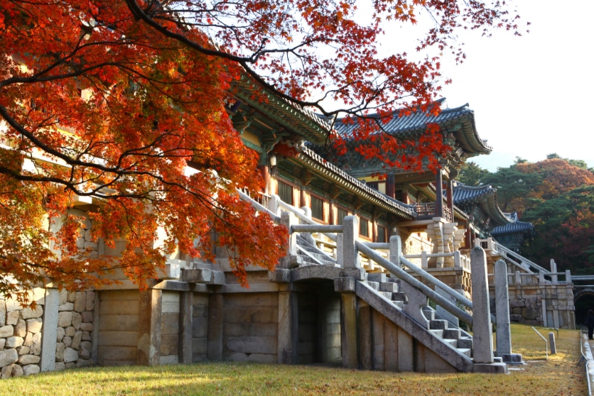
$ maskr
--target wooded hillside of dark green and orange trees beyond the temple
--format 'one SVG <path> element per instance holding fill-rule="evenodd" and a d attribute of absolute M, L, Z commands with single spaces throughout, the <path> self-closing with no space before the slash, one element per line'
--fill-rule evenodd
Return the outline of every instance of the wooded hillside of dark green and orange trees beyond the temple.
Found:
<path fill-rule="evenodd" d="M 536 263 L 554 258 L 559 270 L 594 267 L 594 173 L 583 161 L 547 155 L 538 163 L 517 162 L 484 178 L 497 187 L 503 211 L 518 211 L 534 224 L 535 236 L 522 249 Z"/>

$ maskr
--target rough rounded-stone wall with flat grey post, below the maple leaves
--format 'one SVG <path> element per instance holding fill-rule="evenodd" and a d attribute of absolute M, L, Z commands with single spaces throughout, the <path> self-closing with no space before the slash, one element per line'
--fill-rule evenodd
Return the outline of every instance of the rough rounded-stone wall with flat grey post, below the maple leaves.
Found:
<path fill-rule="evenodd" d="M 0 299 L 1 378 L 92 364 L 95 292 L 37 288 L 31 299 Z"/>

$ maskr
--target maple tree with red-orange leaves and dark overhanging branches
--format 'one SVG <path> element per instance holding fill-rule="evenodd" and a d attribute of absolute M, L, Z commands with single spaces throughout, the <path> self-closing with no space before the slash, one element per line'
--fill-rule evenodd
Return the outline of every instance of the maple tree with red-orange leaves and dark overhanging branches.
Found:
<path fill-rule="evenodd" d="M 234 81 L 247 76 L 293 104 L 355 117 L 365 140 L 403 105 L 438 111 L 441 56 L 465 56 L 456 31 L 519 33 L 500 1 L 374 0 L 363 23 L 356 6 L 1 0 L 0 293 L 46 278 L 95 285 L 115 267 L 142 282 L 176 248 L 209 259 L 212 246 L 232 249 L 245 283 L 245 265 L 276 263 L 286 231 L 235 194 L 262 182 L 225 107 Z M 379 55 L 384 21 L 414 24 L 423 13 L 432 22 L 419 60 Z M 341 105 L 328 110 L 328 101 Z M 426 141 L 423 155 L 443 145 Z M 69 211 L 77 199 L 92 199 L 86 217 Z M 50 232 L 55 219 L 61 227 Z M 92 240 L 126 242 L 118 260 L 77 246 L 89 220 Z"/>

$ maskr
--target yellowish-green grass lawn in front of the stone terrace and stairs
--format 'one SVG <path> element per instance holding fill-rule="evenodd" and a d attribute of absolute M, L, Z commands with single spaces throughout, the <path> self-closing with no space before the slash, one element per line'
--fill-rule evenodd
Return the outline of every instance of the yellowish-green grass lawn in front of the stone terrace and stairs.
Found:
<path fill-rule="evenodd" d="M 547 336 L 549 330 L 539 329 Z M 1 380 L 0 395 L 584 395 L 579 332 L 560 330 L 545 358 L 530 326 L 512 325 L 527 365 L 509 375 L 416 374 L 303 365 L 195 363 L 85 368 Z"/>

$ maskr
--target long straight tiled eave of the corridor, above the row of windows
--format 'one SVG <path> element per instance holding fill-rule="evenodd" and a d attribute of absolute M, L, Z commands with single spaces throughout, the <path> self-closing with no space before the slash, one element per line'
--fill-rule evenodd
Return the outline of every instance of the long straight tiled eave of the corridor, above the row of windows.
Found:
<path fill-rule="evenodd" d="M 327 180 L 332 180 L 345 189 L 346 191 L 357 194 L 357 196 L 365 199 L 367 202 L 374 204 L 382 209 L 389 211 L 396 216 L 400 216 L 406 220 L 416 219 L 416 212 L 414 207 L 406 205 L 403 202 L 396 201 L 388 197 L 386 194 L 370 188 L 360 180 L 355 179 L 348 173 L 340 170 L 340 168 L 324 160 L 320 155 L 314 153 L 312 150 L 306 148 L 296 157 L 298 162 L 307 167 L 309 170 L 317 173 Z"/>

